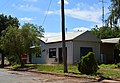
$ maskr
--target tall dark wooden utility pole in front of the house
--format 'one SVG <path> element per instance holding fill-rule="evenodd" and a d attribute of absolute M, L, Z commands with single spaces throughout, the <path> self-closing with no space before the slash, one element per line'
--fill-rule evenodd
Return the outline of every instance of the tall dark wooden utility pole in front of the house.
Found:
<path fill-rule="evenodd" d="M 65 48 L 65 13 L 64 13 L 64 0 L 61 0 L 61 16 L 62 16 L 62 56 L 64 63 L 64 73 L 67 73 L 67 55 Z"/>

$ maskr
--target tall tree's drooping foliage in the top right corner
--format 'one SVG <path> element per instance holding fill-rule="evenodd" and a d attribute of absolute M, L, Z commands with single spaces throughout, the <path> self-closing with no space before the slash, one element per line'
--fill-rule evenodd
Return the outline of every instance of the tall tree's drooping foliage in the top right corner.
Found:
<path fill-rule="evenodd" d="M 111 0 L 110 15 L 108 17 L 108 23 L 111 26 L 119 26 L 120 20 L 120 0 Z"/>

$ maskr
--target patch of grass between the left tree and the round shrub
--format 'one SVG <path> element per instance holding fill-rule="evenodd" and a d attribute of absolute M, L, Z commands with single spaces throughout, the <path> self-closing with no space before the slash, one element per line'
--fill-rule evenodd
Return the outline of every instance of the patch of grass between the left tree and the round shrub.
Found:
<path fill-rule="evenodd" d="M 26 64 L 26 66 L 36 66 L 35 70 L 37 71 L 47 71 L 54 73 L 63 73 L 63 65 L 62 64 Z M 79 73 L 76 65 L 68 65 L 69 72 Z"/>

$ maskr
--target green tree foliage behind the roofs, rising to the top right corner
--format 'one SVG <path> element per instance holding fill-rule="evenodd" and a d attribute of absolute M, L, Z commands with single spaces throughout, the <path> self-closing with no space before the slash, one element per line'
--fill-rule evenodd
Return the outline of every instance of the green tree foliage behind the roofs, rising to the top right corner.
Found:
<path fill-rule="evenodd" d="M 106 20 L 106 25 L 95 27 L 91 31 L 98 38 L 120 37 L 120 0 L 111 0 L 110 15 Z"/>

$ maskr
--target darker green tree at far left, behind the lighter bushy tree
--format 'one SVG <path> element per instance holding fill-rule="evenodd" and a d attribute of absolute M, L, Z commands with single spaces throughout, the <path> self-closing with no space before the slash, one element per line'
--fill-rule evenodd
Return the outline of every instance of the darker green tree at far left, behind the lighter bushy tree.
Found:
<path fill-rule="evenodd" d="M 7 16 L 4 14 L 0 14 L 0 36 L 2 35 L 1 32 L 8 28 L 9 26 L 19 27 L 19 21 L 16 17 L 12 17 L 11 15 Z M 4 52 L 2 54 L 2 62 L 1 66 L 4 66 Z"/>

